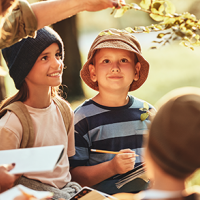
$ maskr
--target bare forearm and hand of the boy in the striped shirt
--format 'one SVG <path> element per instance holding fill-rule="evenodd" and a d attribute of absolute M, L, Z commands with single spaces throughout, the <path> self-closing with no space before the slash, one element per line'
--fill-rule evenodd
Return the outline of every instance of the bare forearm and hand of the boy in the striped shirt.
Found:
<path fill-rule="evenodd" d="M 130 149 L 120 151 L 112 160 L 94 166 L 72 168 L 72 180 L 81 186 L 93 186 L 116 174 L 126 173 L 134 168 L 135 153 Z"/>

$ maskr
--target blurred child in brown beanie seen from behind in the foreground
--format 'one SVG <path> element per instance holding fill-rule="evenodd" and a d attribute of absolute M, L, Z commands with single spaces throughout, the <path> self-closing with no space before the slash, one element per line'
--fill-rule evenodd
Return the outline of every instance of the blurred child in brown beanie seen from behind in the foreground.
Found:
<path fill-rule="evenodd" d="M 173 90 L 162 99 L 145 141 L 145 164 L 151 189 L 138 195 L 116 194 L 119 199 L 200 198 L 200 187 L 186 180 L 200 168 L 200 88 Z M 165 103 L 163 103 L 165 102 Z"/>

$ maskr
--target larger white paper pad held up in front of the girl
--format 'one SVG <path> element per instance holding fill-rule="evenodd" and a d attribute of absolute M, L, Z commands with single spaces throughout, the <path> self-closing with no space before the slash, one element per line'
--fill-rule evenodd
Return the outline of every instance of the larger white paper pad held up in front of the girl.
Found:
<path fill-rule="evenodd" d="M 0 165 L 15 163 L 12 174 L 52 172 L 64 145 L 0 151 Z"/>

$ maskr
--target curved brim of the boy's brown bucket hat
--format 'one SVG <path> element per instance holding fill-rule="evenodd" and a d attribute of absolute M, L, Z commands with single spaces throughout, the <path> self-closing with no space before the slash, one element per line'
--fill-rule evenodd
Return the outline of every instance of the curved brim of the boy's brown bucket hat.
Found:
<path fill-rule="evenodd" d="M 89 71 L 89 65 L 92 64 L 92 58 L 96 52 L 97 49 L 105 49 L 105 48 L 111 48 L 111 49 L 122 49 L 127 50 L 130 52 L 133 52 L 136 54 L 138 58 L 138 62 L 141 64 L 140 69 L 140 76 L 137 81 L 133 81 L 130 85 L 129 91 L 134 91 L 138 89 L 147 79 L 148 73 L 149 73 L 149 63 L 145 60 L 145 58 L 141 55 L 140 52 L 138 52 L 136 49 L 134 49 L 129 44 L 125 43 L 124 41 L 119 40 L 113 40 L 113 41 L 104 41 L 102 43 L 99 43 L 94 49 L 91 54 L 91 56 L 88 58 L 87 62 L 83 65 L 83 68 L 80 72 L 80 76 L 83 79 L 83 81 L 92 89 L 99 91 L 98 83 L 93 82 L 90 78 L 90 71 Z"/>

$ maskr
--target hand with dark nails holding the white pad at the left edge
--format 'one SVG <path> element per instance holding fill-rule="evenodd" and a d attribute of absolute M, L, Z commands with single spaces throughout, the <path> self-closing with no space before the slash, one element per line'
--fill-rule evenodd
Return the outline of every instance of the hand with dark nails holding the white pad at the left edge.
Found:
<path fill-rule="evenodd" d="M 17 176 L 9 173 L 15 164 L 0 165 L 0 193 L 11 188 L 17 179 Z"/>

